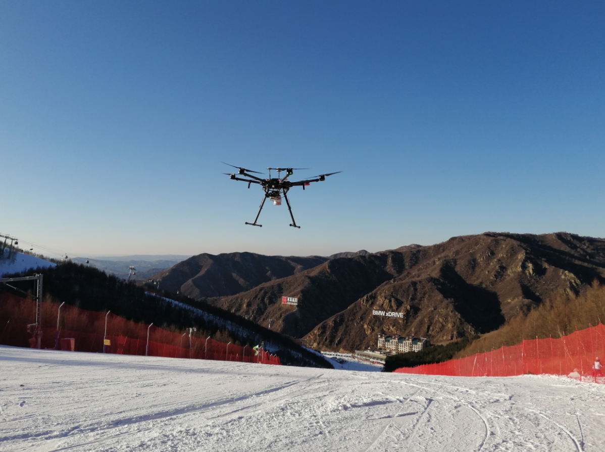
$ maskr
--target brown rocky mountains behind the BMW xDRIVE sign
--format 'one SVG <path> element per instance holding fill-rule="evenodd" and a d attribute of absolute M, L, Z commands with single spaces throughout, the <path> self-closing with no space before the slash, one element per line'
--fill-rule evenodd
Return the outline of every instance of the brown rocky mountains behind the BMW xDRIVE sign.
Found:
<path fill-rule="evenodd" d="M 155 277 L 163 288 L 335 351 L 375 346 L 378 333 L 437 344 L 487 333 L 549 297 L 605 281 L 605 240 L 569 233 L 483 233 L 347 254 L 200 254 Z M 282 304 L 283 296 L 298 306 Z"/>

